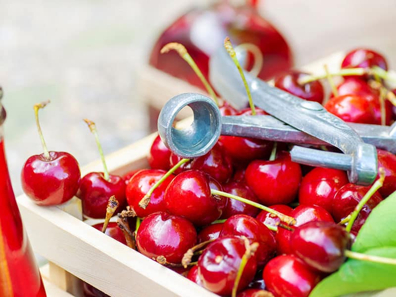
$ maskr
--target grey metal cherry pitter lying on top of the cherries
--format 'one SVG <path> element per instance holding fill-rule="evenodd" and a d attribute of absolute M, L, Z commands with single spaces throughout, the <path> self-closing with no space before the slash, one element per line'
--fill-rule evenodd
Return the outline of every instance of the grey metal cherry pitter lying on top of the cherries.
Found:
<path fill-rule="evenodd" d="M 247 95 L 237 67 L 226 49 L 218 49 L 209 61 L 210 82 L 234 107 L 247 106 Z M 331 152 L 295 145 L 292 160 L 311 166 L 347 170 L 351 183 L 372 184 L 377 176 L 377 148 L 396 153 L 396 123 L 391 127 L 345 123 L 313 101 L 299 99 L 245 72 L 254 104 L 270 115 L 221 116 L 214 101 L 199 94 L 173 97 L 158 117 L 164 144 L 184 158 L 207 153 L 220 135 L 243 136 L 300 145 L 332 145 Z M 186 105 L 194 120 L 185 129 L 173 122 Z"/>

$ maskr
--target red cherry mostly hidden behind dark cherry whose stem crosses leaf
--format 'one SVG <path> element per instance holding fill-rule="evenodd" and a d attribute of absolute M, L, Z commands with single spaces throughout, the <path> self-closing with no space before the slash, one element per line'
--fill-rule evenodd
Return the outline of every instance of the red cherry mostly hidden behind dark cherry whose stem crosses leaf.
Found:
<path fill-rule="evenodd" d="M 307 222 L 333 222 L 331 214 L 318 205 L 304 205 L 300 204 L 292 210 L 290 216 L 296 219 L 296 224 L 293 226 L 298 227 Z M 278 255 L 290 254 L 293 252 L 290 247 L 290 237 L 293 232 L 284 228 L 278 228 L 278 233 L 275 235 Z"/>

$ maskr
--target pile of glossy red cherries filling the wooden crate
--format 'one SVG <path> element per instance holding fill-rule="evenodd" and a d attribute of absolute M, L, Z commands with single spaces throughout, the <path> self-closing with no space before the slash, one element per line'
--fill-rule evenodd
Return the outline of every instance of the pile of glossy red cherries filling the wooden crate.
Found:
<path fill-rule="evenodd" d="M 342 69 L 365 71 L 345 76 L 338 96 L 330 99 L 318 79 L 298 71 L 278 76 L 275 86 L 302 99 L 326 101 L 327 110 L 348 122 L 390 124 L 396 119 L 393 97 L 370 72 L 374 66 L 387 70 L 375 51 L 347 53 Z M 220 110 L 252 113 L 226 102 Z M 256 114 L 265 112 L 256 108 Z M 95 124 L 87 123 L 99 144 Z M 221 136 L 207 154 L 187 160 L 157 136 L 148 152 L 149 168 L 116 176 L 108 174 L 103 158 L 103 172 L 81 179 L 72 156 L 45 147 L 47 153 L 26 162 L 22 185 L 42 205 L 77 195 L 87 217 L 118 213 L 117 223 L 94 227 L 220 296 L 308 296 L 345 261 L 372 209 L 396 191 L 396 156 L 378 149 L 383 186 L 348 230 L 350 214 L 370 187 L 349 183 L 341 170 L 301 166 L 291 160 L 289 147 Z M 99 151 L 102 156 L 100 145 Z M 86 296 L 105 296 L 84 286 Z"/>

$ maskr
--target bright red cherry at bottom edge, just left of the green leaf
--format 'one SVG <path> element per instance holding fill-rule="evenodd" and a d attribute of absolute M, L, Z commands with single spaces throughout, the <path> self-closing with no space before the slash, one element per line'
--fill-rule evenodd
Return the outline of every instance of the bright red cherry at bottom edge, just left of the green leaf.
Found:
<path fill-rule="evenodd" d="M 308 297 L 320 281 L 317 273 L 294 255 L 280 255 L 263 270 L 266 289 L 275 297 Z"/>

